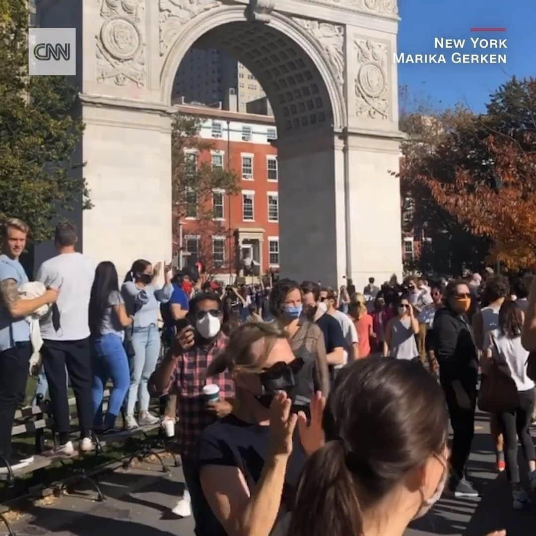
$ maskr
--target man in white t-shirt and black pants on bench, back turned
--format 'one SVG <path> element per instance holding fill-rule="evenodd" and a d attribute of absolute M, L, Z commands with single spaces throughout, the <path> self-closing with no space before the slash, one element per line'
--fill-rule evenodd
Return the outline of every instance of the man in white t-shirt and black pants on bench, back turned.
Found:
<path fill-rule="evenodd" d="M 80 450 L 93 448 L 88 308 L 95 277 L 95 263 L 75 251 L 77 242 L 77 231 L 73 224 L 58 224 L 55 232 L 58 255 L 46 260 L 37 274 L 37 280 L 60 291 L 55 307 L 41 320 L 41 353 L 54 422 L 59 435 L 59 444 L 55 450 L 67 455 L 72 454 L 74 448 L 69 441 L 69 402 L 65 367 L 75 391 L 81 431 Z"/>

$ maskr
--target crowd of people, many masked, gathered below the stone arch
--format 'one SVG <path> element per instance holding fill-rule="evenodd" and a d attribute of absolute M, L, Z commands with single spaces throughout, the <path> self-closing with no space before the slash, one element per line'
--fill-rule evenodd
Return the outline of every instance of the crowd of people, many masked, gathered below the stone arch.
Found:
<path fill-rule="evenodd" d="M 29 463 L 11 452 L 11 427 L 29 366 L 42 366 L 56 454 L 75 451 L 69 383 L 83 452 L 122 410 L 127 429 L 156 425 L 150 400 L 162 400 L 187 487 L 179 511 L 191 506 L 198 535 L 401 535 L 444 488 L 479 495 L 467 475 L 477 385 L 497 362 L 518 397 L 490 418 L 496 470 L 513 508 L 536 491 L 536 278 L 487 269 L 430 284 L 370 278 L 362 292 L 349 279 L 224 288 L 138 259 L 120 286 L 114 264 L 76 252 L 76 228 L 62 223 L 58 255 L 30 283 L 27 233 L 17 219 L 2 230 L 0 472 Z"/>

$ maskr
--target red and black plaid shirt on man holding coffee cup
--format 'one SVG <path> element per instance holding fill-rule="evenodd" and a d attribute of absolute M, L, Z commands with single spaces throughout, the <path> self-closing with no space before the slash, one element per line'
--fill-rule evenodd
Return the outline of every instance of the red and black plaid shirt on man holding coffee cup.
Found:
<path fill-rule="evenodd" d="M 212 361 L 227 346 L 228 338 L 220 333 L 210 346 L 193 347 L 177 359 L 175 369 L 169 378 L 167 388 L 162 394 L 177 395 L 177 423 L 175 433 L 177 445 L 182 456 L 197 456 L 197 443 L 204 428 L 211 425 L 215 418 L 206 411 L 203 387 L 215 383 L 220 388 L 220 398 L 234 398 L 232 376 L 224 373 L 206 377 L 206 370 Z"/>

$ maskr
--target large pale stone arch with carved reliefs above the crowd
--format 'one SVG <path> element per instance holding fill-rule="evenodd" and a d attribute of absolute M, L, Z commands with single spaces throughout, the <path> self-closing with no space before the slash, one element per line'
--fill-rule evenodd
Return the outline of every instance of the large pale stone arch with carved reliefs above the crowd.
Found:
<path fill-rule="evenodd" d="M 83 251 L 170 259 L 173 81 L 192 46 L 262 84 L 278 126 L 281 274 L 358 288 L 401 273 L 396 0 L 38 0 L 77 28 L 92 210 Z"/>

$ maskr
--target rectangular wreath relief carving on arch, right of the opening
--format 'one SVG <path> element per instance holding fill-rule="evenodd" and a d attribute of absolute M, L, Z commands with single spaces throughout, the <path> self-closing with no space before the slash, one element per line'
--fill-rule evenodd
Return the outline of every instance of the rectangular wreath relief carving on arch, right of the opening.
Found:
<path fill-rule="evenodd" d="M 388 120 L 388 46 L 370 39 L 355 38 L 354 49 L 359 65 L 355 78 L 355 115 Z"/>

